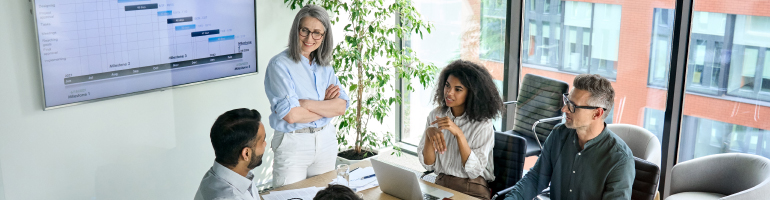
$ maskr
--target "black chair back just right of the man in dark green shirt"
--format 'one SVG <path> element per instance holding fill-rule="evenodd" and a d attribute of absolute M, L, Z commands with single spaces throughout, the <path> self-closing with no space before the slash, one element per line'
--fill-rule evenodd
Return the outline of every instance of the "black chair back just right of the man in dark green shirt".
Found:
<path fill-rule="evenodd" d="M 631 200 L 655 199 L 660 180 L 660 168 L 658 165 L 638 157 L 634 157 L 634 165 L 636 177 L 634 177 L 634 184 L 631 187 Z"/>

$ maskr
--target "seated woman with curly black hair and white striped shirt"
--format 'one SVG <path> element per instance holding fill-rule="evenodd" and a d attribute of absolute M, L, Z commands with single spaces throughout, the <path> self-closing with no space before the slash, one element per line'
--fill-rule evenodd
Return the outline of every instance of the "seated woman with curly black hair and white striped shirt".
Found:
<path fill-rule="evenodd" d="M 478 64 L 457 60 L 438 79 L 418 157 L 434 170 L 436 184 L 481 199 L 491 193 L 487 181 L 495 179 L 492 168 L 493 118 L 502 113 L 503 102 L 492 75 Z"/>

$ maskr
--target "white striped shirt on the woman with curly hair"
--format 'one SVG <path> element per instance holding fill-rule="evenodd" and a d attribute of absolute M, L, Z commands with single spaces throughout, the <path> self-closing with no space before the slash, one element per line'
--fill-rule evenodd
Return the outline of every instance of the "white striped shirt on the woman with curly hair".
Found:
<path fill-rule="evenodd" d="M 495 130 L 492 119 L 475 122 L 468 119 L 465 113 L 459 117 L 454 117 L 450 109 L 436 108 L 428 114 L 425 129 L 427 130 L 431 126 L 431 122 L 436 121 L 436 117 L 446 116 L 449 116 L 449 119 L 463 131 L 468 147 L 471 149 L 468 160 L 465 161 L 465 165 L 462 164 L 463 161 L 462 157 L 460 157 L 460 147 L 457 145 L 457 138 L 449 131 L 442 130 L 441 132 L 444 133 L 444 141 L 446 142 L 446 152 L 444 154 L 436 153 L 436 161 L 433 165 L 426 165 L 422 150 L 425 148 L 425 137 L 427 134 L 423 133 L 420 144 L 417 147 L 420 164 L 427 170 L 435 170 L 434 173 L 436 174 L 444 173 L 459 178 L 471 179 L 481 176 L 484 180 L 494 181 L 492 148 L 495 146 Z M 435 125 L 433 126 L 435 127 Z"/>

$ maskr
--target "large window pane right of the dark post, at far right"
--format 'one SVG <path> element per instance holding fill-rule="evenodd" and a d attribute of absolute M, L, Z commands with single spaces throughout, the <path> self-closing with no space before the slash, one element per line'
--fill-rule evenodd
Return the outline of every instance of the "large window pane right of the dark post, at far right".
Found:
<path fill-rule="evenodd" d="M 728 152 L 770 157 L 768 13 L 713 0 L 694 8 L 679 162 Z"/>

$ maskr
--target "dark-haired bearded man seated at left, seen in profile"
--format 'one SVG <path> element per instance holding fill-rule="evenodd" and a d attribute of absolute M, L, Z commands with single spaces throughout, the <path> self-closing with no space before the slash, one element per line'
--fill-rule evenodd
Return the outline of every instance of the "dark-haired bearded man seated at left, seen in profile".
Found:
<path fill-rule="evenodd" d="M 256 110 L 227 111 L 211 127 L 214 166 L 203 176 L 195 200 L 260 199 L 251 170 L 262 164 L 265 127 Z"/>

